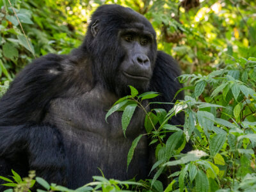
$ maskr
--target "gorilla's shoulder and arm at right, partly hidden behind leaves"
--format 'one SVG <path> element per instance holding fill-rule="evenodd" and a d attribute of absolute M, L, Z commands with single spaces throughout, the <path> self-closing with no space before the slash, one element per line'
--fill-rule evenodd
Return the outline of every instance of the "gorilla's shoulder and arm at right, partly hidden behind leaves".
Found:
<path fill-rule="evenodd" d="M 160 96 L 150 100 L 152 102 L 175 102 L 177 99 L 184 99 L 184 93 L 180 92 L 177 97 L 175 93 L 182 88 L 177 77 L 181 74 L 179 65 L 170 55 L 157 51 L 156 67 L 150 81 L 150 91 L 161 93 Z M 174 100 L 173 100 L 174 99 Z M 173 105 L 170 104 L 152 104 L 151 108 L 164 108 L 170 111 Z M 184 113 L 173 116 L 172 125 L 184 124 Z"/>

